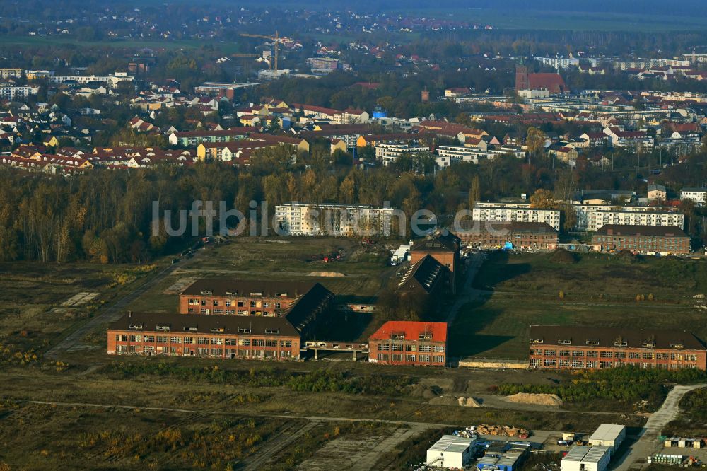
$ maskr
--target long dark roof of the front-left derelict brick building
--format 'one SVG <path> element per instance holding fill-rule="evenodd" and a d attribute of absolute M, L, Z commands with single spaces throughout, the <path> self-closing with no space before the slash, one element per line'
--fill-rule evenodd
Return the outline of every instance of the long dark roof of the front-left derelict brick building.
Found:
<path fill-rule="evenodd" d="M 131 329 L 130 326 L 140 328 Z M 168 327 L 169 330 L 158 330 L 158 326 Z M 196 330 L 189 330 L 189 328 Z M 250 335 L 300 336 L 296 328 L 286 318 L 245 315 L 127 313 L 113 322 L 109 329 L 131 332 L 192 332 L 194 334 L 226 335 L 238 335 L 240 329 L 250 330 Z"/>

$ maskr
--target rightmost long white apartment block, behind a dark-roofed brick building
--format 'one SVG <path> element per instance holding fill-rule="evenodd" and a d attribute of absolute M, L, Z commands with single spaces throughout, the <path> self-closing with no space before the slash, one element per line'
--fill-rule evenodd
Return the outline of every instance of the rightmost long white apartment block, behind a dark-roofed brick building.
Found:
<path fill-rule="evenodd" d="M 595 232 L 606 224 L 621 226 L 667 226 L 683 228 L 685 215 L 679 211 L 656 211 L 644 206 L 575 204 L 579 232 Z"/>

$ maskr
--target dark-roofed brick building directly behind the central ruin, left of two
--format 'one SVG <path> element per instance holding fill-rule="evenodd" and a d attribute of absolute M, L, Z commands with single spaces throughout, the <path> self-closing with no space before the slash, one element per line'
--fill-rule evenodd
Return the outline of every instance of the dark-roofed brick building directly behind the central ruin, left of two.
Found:
<path fill-rule="evenodd" d="M 548 223 L 461 221 L 456 231 L 462 242 L 474 248 L 498 249 L 508 246 L 521 250 L 554 250 L 558 232 Z"/>

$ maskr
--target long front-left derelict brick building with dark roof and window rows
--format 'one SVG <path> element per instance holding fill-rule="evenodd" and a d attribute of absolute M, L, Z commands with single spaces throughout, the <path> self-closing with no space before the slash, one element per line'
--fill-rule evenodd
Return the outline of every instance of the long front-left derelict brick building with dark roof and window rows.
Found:
<path fill-rule="evenodd" d="M 110 355 L 300 358 L 300 332 L 286 318 L 127 313 L 108 327 Z"/>

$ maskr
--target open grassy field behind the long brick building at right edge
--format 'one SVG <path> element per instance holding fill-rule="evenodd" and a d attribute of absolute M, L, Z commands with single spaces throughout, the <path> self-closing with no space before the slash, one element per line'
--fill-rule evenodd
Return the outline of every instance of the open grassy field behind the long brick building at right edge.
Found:
<path fill-rule="evenodd" d="M 475 283 L 491 291 L 460 311 L 450 330 L 452 354 L 527 358 L 531 324 L 678 328 L 707 339 L 707 310 L 693 297 L 707 293 L 706 262 L 606 255 L 583 255 L 573 264 L 551 260 L 549 254 L 491 255 Z"/>

